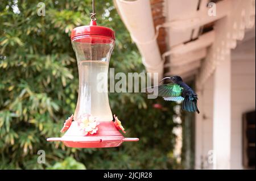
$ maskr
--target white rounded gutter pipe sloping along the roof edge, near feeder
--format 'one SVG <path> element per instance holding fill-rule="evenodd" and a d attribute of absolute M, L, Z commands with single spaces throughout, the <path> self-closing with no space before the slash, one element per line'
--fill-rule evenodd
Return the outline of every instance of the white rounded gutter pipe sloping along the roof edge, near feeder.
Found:
<path fill-rule="evenodd" d="M 147 72 L 158 73 L 158 78 L 162 79 L 164 62 L 156 41 L 150 1 L 114 0 L 114 3 L 131 38 L 137 44 Z"/>

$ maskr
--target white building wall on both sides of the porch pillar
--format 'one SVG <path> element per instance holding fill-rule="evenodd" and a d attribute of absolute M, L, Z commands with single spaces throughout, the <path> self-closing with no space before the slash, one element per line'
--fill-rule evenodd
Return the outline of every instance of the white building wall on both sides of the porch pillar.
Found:
<path fill-rule="evenodd" d="M 231 158 L 230 169 L 242 166 L 242 113 L 255 110 L 255 37 L 232 50 L 231 62 Z M 195 169 L 212 169 L 213 75 L 199 95 L 200 114 L 196 114 Z M 220 103 L 221 104 L 221 103 Z"/>

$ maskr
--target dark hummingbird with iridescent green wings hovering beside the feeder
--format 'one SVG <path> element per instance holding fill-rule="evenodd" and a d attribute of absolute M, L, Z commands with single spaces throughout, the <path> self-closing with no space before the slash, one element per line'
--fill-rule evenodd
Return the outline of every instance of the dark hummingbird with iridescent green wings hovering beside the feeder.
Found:
<path fill-rule="evenodd" d="M 181 106 L 183 110 L 200 113 L 197 108 L 196 93 L 183 82 L 180 76 L 164 77 L 160 82 L 164 79 L 170 79 L 172 83 L 151 87 L 151 89 L 158 89 L 158 96 L 162 96 L 164 100 L 168 101 L 183 101 Z M 146 92 L 149 93 L 148 88 Z"/>

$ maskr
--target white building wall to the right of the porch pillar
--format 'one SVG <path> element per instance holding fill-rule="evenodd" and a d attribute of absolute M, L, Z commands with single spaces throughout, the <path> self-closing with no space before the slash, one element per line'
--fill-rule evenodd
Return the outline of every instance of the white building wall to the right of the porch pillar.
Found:
<path fill-rule="evenodd" d="M 242 113 L 255 110 L 255 37 L 232 51 L 231 169 L 242 166 Z"/>

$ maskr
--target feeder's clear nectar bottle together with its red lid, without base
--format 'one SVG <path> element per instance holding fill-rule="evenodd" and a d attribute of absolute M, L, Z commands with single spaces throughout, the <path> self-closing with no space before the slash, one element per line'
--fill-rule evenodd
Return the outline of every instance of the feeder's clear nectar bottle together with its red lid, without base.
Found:
<path fill-rule="evenodd" d="M 79 96 L 74 120 L 89 113 L 99 121 L 112 121 L 108 99 L 108 67 L 114 32 L 100 26 L 77 27 L 71 34 L 79 68 Z"/>

